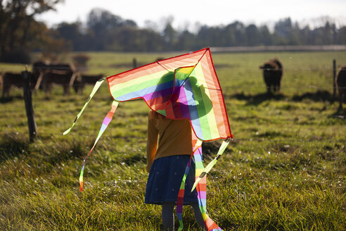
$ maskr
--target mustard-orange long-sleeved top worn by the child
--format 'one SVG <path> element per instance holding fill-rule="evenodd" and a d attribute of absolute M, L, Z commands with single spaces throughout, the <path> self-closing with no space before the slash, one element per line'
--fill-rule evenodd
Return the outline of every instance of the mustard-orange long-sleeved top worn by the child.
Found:
<path fill-rule="evenodd" d="M 148 115 L 148 139 L 146 154 L 149 172 L 151 164 L 157 158 L 174 155 L 191 155 L 191 124 L 188 119 L 171 120 L 164 116 Z"/>

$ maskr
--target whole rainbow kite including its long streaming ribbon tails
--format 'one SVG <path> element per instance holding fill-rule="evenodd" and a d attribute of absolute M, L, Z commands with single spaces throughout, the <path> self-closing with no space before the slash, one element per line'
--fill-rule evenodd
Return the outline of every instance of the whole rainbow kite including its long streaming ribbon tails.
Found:
<path fill-rule="evenodd" d="M 110 120 L 112 120 L 117 105 L 121 101 L 143 99 L 149 108 L 162 116 L 170 119 L 188 118 L 193 130 L 192 142 L 194 149 L 191 158 L 193 156 L 196 161 L 196 182 L 193 185 L 193 189 L 195 187 L 197 189 L 198 203 L 207 229 L 221 230 L 207 215 L 206 174 L 222 155 L 227 144 L 229 144 L 229 139 L 233 138 L 233 135 L 229 127 L 222 89 L 214 70 L 210 49 L 205 48 L 200 51 L 156 61 L 107 77 L 106 79 L 114 101 L 112 109 L 103 120 L 94 146 L 110 123 Z M 104 80 L 96 82 L 87 103 L 84 104 L 72 126 L 63 133 L 64 135 L 68 134 L 72 127 L 75 126 L 79 116 Z M 214 160 L 204 168 L 201 150 L 202 142 L 215 139 L 225 140 Z M 89 151 L 89 154 L 94 149 L 94 146 Z M 84 158 L 84 163 L 86 158 Z M 81 191 L 83 190 L 84 163 L 79 177 Z M 177 199 L 179 230 L 183 228 L 181 211 L 184 199 L 184 181 L 189 169 L 190 162 L 186 166 L 186 172 L 182 179 Z"/>

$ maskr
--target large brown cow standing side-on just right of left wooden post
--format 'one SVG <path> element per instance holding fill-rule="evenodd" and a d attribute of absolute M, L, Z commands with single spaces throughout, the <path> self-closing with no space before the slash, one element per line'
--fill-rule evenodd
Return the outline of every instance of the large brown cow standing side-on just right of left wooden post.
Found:
<path fill-rule="evenodd" d="M 78 75 L 75 67 L 70 63 L 45 63 L 41 61 L 32 65 L 32 73 L 37 77 L 35 89 L 42 85 L 44 92 L 50 94 L 53 84 L 62 85 L 65 95 L 70 93 L 70 87 Z"/>

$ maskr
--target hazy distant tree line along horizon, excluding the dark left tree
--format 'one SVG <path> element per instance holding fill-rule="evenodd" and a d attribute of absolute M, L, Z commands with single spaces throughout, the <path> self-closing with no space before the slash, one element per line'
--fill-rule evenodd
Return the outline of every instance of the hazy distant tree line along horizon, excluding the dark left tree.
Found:
<path fill-rule="evenodd" d="M 300 27 L 290 18 L 278 20 L 274 30 L 267 25 L 201 26 L 197 32 L 176 30 L 167 21 L 160 32 L 140 28 L 133 20 L 124 20 L 109 11 L 94 9 L 86 27 L 82 23 L 60 23 L 53 30 L 74 51 L 190 51 L 205 46 L 269 46 L 346 44 L 346 26 L 337 28 L 326 22 L 322 27 Z"/>

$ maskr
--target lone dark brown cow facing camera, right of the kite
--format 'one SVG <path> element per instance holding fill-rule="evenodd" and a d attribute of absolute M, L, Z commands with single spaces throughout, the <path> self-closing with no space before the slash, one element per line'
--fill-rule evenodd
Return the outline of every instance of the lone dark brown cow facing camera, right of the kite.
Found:
<path fill-rule="evenodd" d="M 267 92 L 280 92 L 281 80 L 283 75 L 283 65 L 278 58 L 272 58 L 259 66 L 263 70 L 264 82 L 267 86 Z"/>

